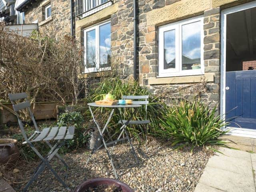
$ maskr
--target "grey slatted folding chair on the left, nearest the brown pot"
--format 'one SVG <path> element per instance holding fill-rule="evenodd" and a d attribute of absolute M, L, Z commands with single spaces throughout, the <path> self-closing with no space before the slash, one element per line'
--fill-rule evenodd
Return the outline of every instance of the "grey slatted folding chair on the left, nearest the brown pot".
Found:
<path fill-rule="evenodd" d="M 12 107 L 14 109 L 14 112 L 18 118 L 18 124 L 20 126 L 20 130 L 22 132 L 22 135 L 24 136 L 25 142 L 22 142 L 22 144 L 28 144 L 32 150 L 38 155 L 38 157 L 41 159 L 40 164 L 37 166 L 37 168 L 34 171 L 33 176 L 30 178 L 28 184 L 25 186 L 23 191 L 25 192 L 30 184 L 36 178 L 38 178 L 39 174 L 44 170 L 45 167 L 48 167 L 49 170 L 54 174 L 54 176 L 59 180 L 59 182 L 65 187 L 68 188 L 66 183 L 58 176 L 58 174 L 52 169 L 52 166 L 50 165 L 50 160 L 56 155 L 60 161 L 64 164 L 64 166 L 67 168 L 66 170 L 66 177 L 65 181 L 67 179 L 67 174 L 68 174 L 68 165 L 66 162 L 63 160 L 62 157 L 58 154 L 58 150 L 60 149 L 61 146 L 64 145 L 66 140 L 70 140 L 74 136 L 74 126 L 70 127 L 52 127 L 52 128 L 44 128 L 42 131 L 38 129 L 38 126 L 36 124 L 34 115 L 30 109 L 30 102 L 27 100 L 27 94 L 26 93 L 16 93 L 16 94 L 8 94 L 10 101 L 12 102 Z M 15 100 L 25 100 L 24 102 L 14 102 Z M 22 121 L 20 120 L 19 117 L 19 111 L 28 109 L 30 113 L 30 117 L 32 119 L 32 122 L 35 126 L 36 131 L 28 138 L 26 135 L 26 132 L 24 130 Z M 50 144 L 50 140 L 56 141 L 54 146 Z M 34 142 L 46 142 L 46 144 L 50 147 L 50 151 L 46 155 L 46 157 L 43 157 L 38 150 L 34 147 L 32 143 Z"/>

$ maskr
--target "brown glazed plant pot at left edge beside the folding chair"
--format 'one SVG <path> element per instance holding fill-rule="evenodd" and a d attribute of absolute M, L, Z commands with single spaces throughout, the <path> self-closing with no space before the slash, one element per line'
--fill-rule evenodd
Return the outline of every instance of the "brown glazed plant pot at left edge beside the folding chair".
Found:
<path fill-rule="evenodd" d="M 12 168 L 19 157 L 17 140 L 0 139 L 0 164 L 5 168 Z"/>

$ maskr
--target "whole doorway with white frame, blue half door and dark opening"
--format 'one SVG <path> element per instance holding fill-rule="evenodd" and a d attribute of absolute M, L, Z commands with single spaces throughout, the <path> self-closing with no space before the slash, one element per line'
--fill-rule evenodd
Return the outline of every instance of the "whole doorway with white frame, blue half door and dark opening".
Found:
<path fill-rule="evenodd" d="M 222 12 L 222 114 L 256 136 L 256 1 Z M 245 136 L 245 135 L 244 135 Z"/>

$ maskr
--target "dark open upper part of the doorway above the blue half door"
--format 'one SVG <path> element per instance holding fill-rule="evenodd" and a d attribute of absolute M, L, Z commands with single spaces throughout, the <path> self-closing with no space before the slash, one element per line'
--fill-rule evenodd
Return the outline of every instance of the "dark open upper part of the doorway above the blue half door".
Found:
<path fill-rule="evenodd" d="M 256 7 L 227 15 L 226 71 L 256 70 Z"/>

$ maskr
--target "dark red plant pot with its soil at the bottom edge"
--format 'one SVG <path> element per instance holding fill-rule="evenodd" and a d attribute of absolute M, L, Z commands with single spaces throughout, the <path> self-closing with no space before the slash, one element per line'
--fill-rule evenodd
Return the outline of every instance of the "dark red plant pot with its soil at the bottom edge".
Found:
<path fill-rule="evenodd" d="M 109 178 L 95 178 L 90 179 L 82 184 L 80 184 L 74 192 L 85 192 L 89 191 L 90 189 L 94 189 L 94 191 L 105 191 L 104 188 L 108 188 L 110 186 L 114 186 L 113 191 L 118 192 L 134 192 L 132 188 L 130 188 L 128 185 L 126 185 L 123 182 L 120 182 L 116 179 L 109 179 Z"/>

